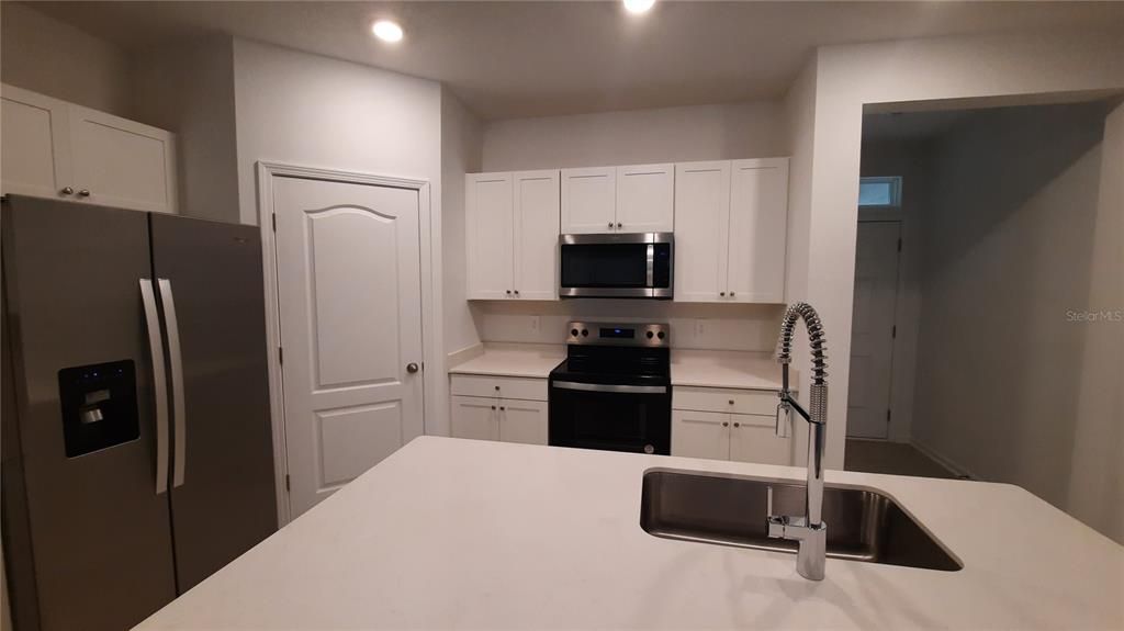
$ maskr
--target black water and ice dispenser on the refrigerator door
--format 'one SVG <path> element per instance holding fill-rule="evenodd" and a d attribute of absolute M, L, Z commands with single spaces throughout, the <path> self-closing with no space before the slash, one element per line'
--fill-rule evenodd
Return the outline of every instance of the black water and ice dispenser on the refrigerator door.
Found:
<path fill-rule="evenodd" d="M 132 359 L 58 371 L 66 457 L 136 440 L 136 367 Z"/>

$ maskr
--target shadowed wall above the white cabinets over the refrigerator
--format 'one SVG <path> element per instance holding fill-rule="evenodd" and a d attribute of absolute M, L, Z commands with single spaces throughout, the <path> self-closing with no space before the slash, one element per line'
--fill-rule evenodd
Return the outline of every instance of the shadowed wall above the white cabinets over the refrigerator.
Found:
<path fill-rule="evenodd" d="M 48 97 L 129 118 L 125 51 L 17 2 L 0 2 L 0 79 Z"/>

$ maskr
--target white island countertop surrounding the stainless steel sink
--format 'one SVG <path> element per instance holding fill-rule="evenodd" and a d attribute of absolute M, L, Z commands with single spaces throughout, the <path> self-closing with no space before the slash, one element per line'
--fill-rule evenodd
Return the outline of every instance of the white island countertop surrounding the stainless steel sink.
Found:
<path fill-rule="evenodd" d="M 660 539 L 652 467 L 804 469 L 423 437 L 139 629 L 1117 629 L 1124 548 L 1008 485 L 827 472 L 894 496 L 935 571 Z M 763 519 L 763 516 L 762 516 Z M 830 524 L 828 524 L 830 528 Z"/>

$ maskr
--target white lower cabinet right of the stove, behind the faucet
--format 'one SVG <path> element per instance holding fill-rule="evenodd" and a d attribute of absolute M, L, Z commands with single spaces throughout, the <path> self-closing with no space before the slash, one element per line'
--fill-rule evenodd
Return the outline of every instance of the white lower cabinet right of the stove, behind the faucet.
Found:
<path fill-rule="evenodd" d="M 792 461 L 791 439 L 774 432 L 771 414 L 741 414 L 714 410 L 736 408 L 743 399 L 738 391 L 705 388 L 685 390 L 672 394 L 671 455 L 715 460 L 738 460 L 765 465 L 788 465 Z M 763 393 L 745 391 L 754 400 Z M 706 410 L 682 410 L 681 406 Z"/>

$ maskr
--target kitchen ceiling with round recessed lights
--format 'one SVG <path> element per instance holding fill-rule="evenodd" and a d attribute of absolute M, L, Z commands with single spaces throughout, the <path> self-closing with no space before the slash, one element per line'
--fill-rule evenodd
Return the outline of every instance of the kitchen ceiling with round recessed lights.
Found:
<path fill-rule="evenodd" d="M 127 49 L 223 31 L 445 82 L 484 119 L 781 97 L 825 44 L 1124 28 L 1124 2 L 46 2 Z M 397 19 L 406 39 L 370 35 Z"/>

